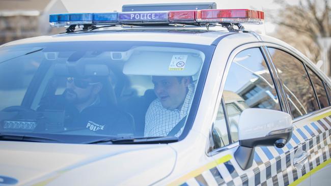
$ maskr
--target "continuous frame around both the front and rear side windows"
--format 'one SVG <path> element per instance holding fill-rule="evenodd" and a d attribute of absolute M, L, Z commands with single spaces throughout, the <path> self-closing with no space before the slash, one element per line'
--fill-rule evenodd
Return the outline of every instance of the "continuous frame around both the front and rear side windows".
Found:
<path fill-rule="evenodd" d="M 243 44 L 243 45 L 240 45 L 238 46 L 237 48 L 235 48 L 234 50 L 232 50 L 231 54 L 229 55 L 228 57 L 228 60 L 226 62 L 226 67 L 225 67 L 225 70 L 222 74 L 222 80 L 221 80 L 221 83 L 220 83 L 220 86 L 219 86 L 219 89 L 218 89 L 218 92 L 217 92 L 217 99 L 216 99 L 216 102 L 215 102 L 215 106 L 213 108 L 213 118 L 212 118 L 212 123 L 214 123 L 215 119 L 216 119 L 216 114 L 217 114 L 217 111 L 218 111 L 218 107 L 220 106 L 220 103 L 221 101 L 223 100 L 223 90 L 224 90 L 224 86 L 225 86 L 225 83 L 226 83 L 226 79 L 228 77 L 228 72 L 230 70 L 230 66 L 232 64 L 232 61 L 234 59 L 234 57 L 240 53 L 241 51 L 243 50 L 246 50 L 246 49 L 250 49 L 250 48 L 260 48 L 261 50 L 261 53 L 266 61 L 266 64 L 269 68 L 269 71 L 270 71 L 270 75 L 271 75 L 271 78 L 273 80 L 273 83 L 274 83 L 274 86 L 275 86 L 275 90 L 277 92 L 277 95 L 278 95 L 278 98 L 279 98 L 279 102 L 280 102 L 280 107 L 282 109 L 283 112 L 286 112 L 286 113 L 289 113 L 292 115 L 291 111 L 290 111 L 290 106 L 289 106 L 289 103 L 286 99 L 286 93 L 285 93 L 285 90 L 282 86 L 282 81 L 280 79 L 280 76 L 274 66 L 274 64 L 272 63 L 272 60 L 271 60 L 271 55 L 267 49 L 267 47 L 271 47 L 271 48 L 275 48 L 275 49 L 280 49 L 284 52 L 287 52 L 289 53 L 290 55 L 294 56 L 295 58 L 297 58 L 299 61 L 301 61 L 302 64 L 304 64 L 305 66 L 305 69 L 306 69 L 306 73 L 307 73 L 307 68 L 306 67 L 309 67 L 323 82 L 324 84 L 324 88 L 325 88 L 325 91 L 326 91 L 326 95 L 328 97 L 328 100 L 330 102 L 330 105 L 331 105 L 331 95 L 329 94 L 329 92 L 326 90 L 326 86 L 329 86 L 331 88 L 331 81 L 324 75 L 322 74 L 321 71 L 318 71 L 318 69 L 316 69 L 315 65 L 305 56 L 303 56 L 302 54 L 299 54 L 297 51 L 295 51 L 295 49 L 288 49 L 287 47 L 284 47 L 284 46 L 281 46 L 281 45 L 278 45 L 278 44 L 275 44 L 275 43 L 249 43 L 249 44 Z M 310 76 L 308 74 L 308 77 L 310 79 Z M 312 84 L 313 86 L 313 84 Z M 316 91 L 315 91 L 315 88 L 313 87 L 313 90 L 314 90 L 314 94 L 316 95 Z M 293 123 L 296 122 L 296 121 L 299 121 L 299 120 L 302 120 L 302 119 L 305 119 L 305 118 L 308 118 L 308 117 L 311 117 L 312 115 L 314 114 L 318 114 L 318 113 L 321 113 L 321 112 L 324 112 L 328 109 L 330 109 L 331 106 L 329 107 L 325 107 L 323 109 L 319 109 L 317 111 L 314 111 L 314 112 L 311 112 L 311 113 L 308 113 L 306 115 L 302 115 L 300 117 L 297 117 L 295 119 L 293 119 Z M 228 117 L 227 115 L 225 115 L 225 117 Z M 229 125 L 229 123 L 226 123 L 227 127 Z M 217 148 L 217 149 L 213 149 L 213 150 L 210 150 L 210 144 L 213 143 L 213 141 L 210 141 L 212 140 L 212 136 L 211 136 L 211 132 L 212 132 L 212 127 L 213 125 L 211 125 L 211 128 L 209 129 L 210 131 L 210 136 L 209 136 L 209 139 L 207 141 L 207 148 L 206 148 L 206 154 L 207 156 L 214 156 L 215 154 L 218 154 L 220 152 L 223 152 L 224 150 L 228 150 L 228 149 L 231 149 L 231 148 L 234 148 L 234 147 L 237 147 L 239 146 L 239 142 L 233 142 L 233 143 L 229 143 L 229 145 L 226 145 L 226 146 L 223 146 L 223 147 L 220 147 L 220 148 Z M 229 129 L 228 129 L 229 131 Z M 231 135 L 231 134 L 230 134 Z"/>

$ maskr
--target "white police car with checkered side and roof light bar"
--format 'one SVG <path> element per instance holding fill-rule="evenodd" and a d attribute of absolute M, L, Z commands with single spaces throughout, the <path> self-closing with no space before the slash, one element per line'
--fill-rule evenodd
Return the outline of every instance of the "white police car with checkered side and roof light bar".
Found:
<path fill-rule="evenodd" d="M 169 6 L 0 47 L 1 185 L 329 185 L 331 81 L 261 11 Z"/>

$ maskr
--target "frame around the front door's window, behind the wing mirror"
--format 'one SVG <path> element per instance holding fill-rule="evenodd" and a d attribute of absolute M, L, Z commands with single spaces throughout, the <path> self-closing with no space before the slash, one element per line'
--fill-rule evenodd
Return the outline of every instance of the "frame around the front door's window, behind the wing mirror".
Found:
<path fill-rule="evenodd" d="M 221 83 L 220 83 L 220 86 L 219 86 L 219 89 L 218 89 L 218 93 L 217 93 L 217 99 L 216 99 L 216 102 L 215 102 L 215 106 L 213 108 L 213 118 L 212 118 L 212 125 L 209 129 L 209 140 L 207 142 L 207 146 L 206 146 L 206 154 L 207 156 L 214 156 L 215 154 L 217 153 L 220 153 L 224 150 L 228 150 L 230 148 L 234 148 L 234 147 L 237 147 L 239 145 L 239 141 L 236 141 L 236 142 L 232 142 L 230 141 L 231 139 L 231 133 L 229 133 L 230 131 L 230 123 L 229 123 L 229 118 L 228 118 L 228 115 L 227 115 L 227 111 L 225 110 L 226 107 L 225 107 L 225 102 L 224 102 L 224 99 L 223 99 L 223 91 L 224 91 L 224 87 L 225 87 L 225 83 L 226 83 L 226 80 L 227 80 L 227 77 L 228 77 L 228 73 L 229 73 L 229 70 L 230 70 L 230 67 L 232 65 L 232 61 L 233 59 L 235 58 L 235 56 L 242 52 L 243 50 L 247 50 L 247 49 L 251 49 L 251 48 L 258 48 L 260 49 L 260 52 L 261 52 L 261 55 L 263 56 L 265 62 L 266 62 L 266 65 L 268 67 L 268 70 L 270 72 L 270 76 L 271 76 L 271 79 L 272 79 L 272 82 L 274 84 L 274 87 L 275 87 L 275 91 L 277 92 L 277 96 L 278 96 L 278 100 L 279 100 L 279 104 L 280 104 L 280 108 L 283 112 L 286 112 L 286 109 L 288 109 L 288 107 L 284 104 L 286 104 L 286 102 L 284 102 L 284 94 L 282 94 L 282 89 L 280 89 L 279 87 L 279 78 L 277 76 L 277 74 L 275 73 L 274 71 L 274 68 L 272 67 L 272 63 L 270 63 L 270 60 L 269 60 L 269 56 L 267 56 L 267 52 L 265 51 L 266 48 L 264 47 L 264 45 L 260 42 L 256 42 L 256 43 L 249 43 L 249 44 L 243 44 L 243 45 L 240 45 L 238 46 L 237 48 L 235 48 L 234 50 L 232 50 L 232 52 L 230 53 L 229 55 L 229 58 L 227 60 L 227 63 L 226 63 L 226 67 L 225 67 L 225 70 L 224 72 L 222 73 L 222 80 L 221 80 Z M 213 138 L 212 138 L 212 129 L 213 129 L 213 123 L 215 122 L 216 120 L 216 115 L 217 115 L 217 112 L 218 112 L 218 108 L 219 106 L 222 105 L 223 109 L 224 109 L 224 114 L 225 114 L 225 120 L 226 120 L 226 127 L 227 127 L 227 131 L 228 131 L 228 136 L 229 137 L 229 144 L 226 145 L 226 146 L 223 146 L 223 147 L 220 147 L 220 148 L 215 148 L 215 149 L 212 149 L 211 148 L 211 144 L 214 144 L 214 141 L 213 141 Z"/>

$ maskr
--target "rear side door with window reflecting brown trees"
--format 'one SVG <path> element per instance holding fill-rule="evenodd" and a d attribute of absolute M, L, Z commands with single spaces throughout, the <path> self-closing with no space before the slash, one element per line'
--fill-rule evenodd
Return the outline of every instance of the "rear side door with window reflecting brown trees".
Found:
<path fill-rule="evenodd" d="M 293 137 L 303 145 L 295 150 L 293 171 L 299 173 L 298 165 L 308 158 L 309 166 L 301 170 L 310 173 L 311 185 L 329 185 L 331 108 L 326 91 L 329 85 L 299 55 L 279 46 L 270 46 L 268 51 L 294 119 Z M 306 179 L 301 177 L 295 183 L 308 182 Z"/>

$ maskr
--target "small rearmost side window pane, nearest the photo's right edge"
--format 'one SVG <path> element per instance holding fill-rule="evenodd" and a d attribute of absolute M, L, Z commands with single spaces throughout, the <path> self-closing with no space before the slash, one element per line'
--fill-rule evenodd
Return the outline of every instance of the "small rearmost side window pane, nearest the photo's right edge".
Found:
<path fill-rule="evenodd" d="M 310 79 L 312 80 L 312 83 L 314 85 L 316 94 L 317 94 L 317 98 L 319 101 L 319 104 L 321 106 L 321 108 L 325 108 L 330 106 L 329 102 L 327 100 L 327 96 L 326 96 L 326 91 L 323 85 L 322 80 L 309 68 L 307 68 Z"/>

